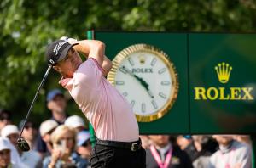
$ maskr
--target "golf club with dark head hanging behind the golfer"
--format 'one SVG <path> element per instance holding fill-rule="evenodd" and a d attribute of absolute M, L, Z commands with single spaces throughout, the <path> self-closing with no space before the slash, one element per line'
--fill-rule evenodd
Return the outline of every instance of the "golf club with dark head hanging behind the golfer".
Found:
<path fill-rule="evenodd" d="M 46 72 L 45 72 L 45 74 L 44 74 L 43 80 L 41 81 L 41 83 L 40 83 L 40 85 L 39 85 L 39 87 L 38 87 L 38 91 L 36 92 L 36 95 L 35 95 L 35 97 L 34 97 L 33 100 L 32 100 L 32 104 L 30 105 L 30 108 L 28 109 L 28 112 L 27 112 L 27 115 L 26 115 L 26 119 L 25 119 L 25 121 L 24 121 L 24 123 L 23 123 L 23 126 L 22 126 L 22 128 L 21 128 L 20 136 L 19 136 L 19 138 L 18 138 L 18 140 L 17 140 L 17 145 L 18 145 L 18 148 L 20 148 L 20 150 L 22 150 L 22 151 L 29 151 L 29 149 L 30 149 L 28 143 L 26 142 L 26 140 L 25 140 L 23 137 L 21 137 L 21 135 L 22 135 L 22 132 L 23 132 L 24 127 L 25 127 L 25 125 L 26 125 L 26 121 L 27 121 L 27 119 L 28 119 L 28 116 L 29 116 L 30 113 L 31 113 L 33 104 L 34 104 L 35 100 L 38 98 L 38 92 L 40 91 L 41 87 L 43 86 L 44 81 L 45 81 L 46 77 L 48 76 L 49 70 L 50 70 L 51 68 L 52 68 L 52 65 L 49 65 L 48 69 L 46 70 Z"/>

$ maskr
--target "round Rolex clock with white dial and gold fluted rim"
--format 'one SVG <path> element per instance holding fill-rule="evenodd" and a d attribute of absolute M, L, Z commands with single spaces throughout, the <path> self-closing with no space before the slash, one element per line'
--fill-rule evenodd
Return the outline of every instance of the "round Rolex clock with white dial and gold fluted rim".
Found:
<path fill-rule="evenodd" d="M 147 44 L 122 50 L 113 59 L 108 81 L 131 105 L 138 121 L 157 120 L 177 98 L 177 73 L 166 53 Z"/>

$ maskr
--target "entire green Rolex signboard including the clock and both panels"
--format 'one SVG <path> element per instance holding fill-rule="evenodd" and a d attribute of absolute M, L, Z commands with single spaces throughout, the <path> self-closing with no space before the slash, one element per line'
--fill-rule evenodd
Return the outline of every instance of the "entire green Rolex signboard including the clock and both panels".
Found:
<path fill-rule="evenodd" d="M 131 104 L 142 134 L 256 132 L 256 35 L 95 36 L 113 60 L 108 80 Z"/>

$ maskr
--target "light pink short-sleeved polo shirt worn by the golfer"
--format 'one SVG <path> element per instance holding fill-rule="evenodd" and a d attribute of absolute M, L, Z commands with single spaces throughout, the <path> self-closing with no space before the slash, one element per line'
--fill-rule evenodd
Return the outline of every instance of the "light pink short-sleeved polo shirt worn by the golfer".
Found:
<path fill-rule="evenodd" d="M 106 80 L 102 67 L 90 58 L 81 64 L 73 78 L 61 79 L 79 108 L 102 140 L 138 140 L 138 125 L 130 104 Z"/>

